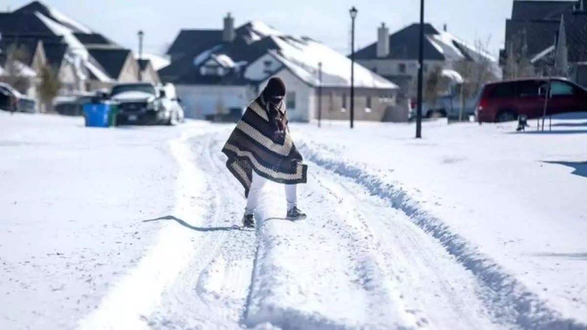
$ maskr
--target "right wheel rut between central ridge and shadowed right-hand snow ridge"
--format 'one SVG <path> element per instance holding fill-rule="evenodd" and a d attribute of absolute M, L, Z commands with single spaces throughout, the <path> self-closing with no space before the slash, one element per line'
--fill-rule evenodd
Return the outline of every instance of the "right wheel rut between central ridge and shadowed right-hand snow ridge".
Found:
<path fill-rule="evenodd" d="M 454 330 L 505 328 L 493 323 L 490 311 L 478 298 L 483 289 L 473 274 L 405 214 L 369 196 L 362 187 L 316 167 L 313 180 L 339 200 L 336 207 L 373 235 L 386 275 L 396 283 L 394 287 L 406 311 L 417 317 L 417 325 Z"/>

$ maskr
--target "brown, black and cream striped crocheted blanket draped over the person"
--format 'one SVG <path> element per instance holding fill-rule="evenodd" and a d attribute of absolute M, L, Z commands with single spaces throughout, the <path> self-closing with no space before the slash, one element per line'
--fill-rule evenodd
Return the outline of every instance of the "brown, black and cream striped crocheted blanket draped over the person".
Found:
<path fill-rule="evenodd" d="M 307 179 L 308 166 L 303 164 L 289 129 L 285 136 L 275 137 L 265 108 L 261 96 L 253 100 L 222 147 L 228 157 L 226 166 L 245 188 L 245 197 L 251 188 L 252 171 L 276 183 L 306 183 Z M 285 114 L 285 106 L 281 111 Z"/>

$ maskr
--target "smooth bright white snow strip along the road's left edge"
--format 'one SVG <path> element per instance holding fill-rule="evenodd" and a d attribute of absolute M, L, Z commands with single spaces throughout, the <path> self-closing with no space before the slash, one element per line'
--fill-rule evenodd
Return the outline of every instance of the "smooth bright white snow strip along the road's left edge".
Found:
<path fill-rule="evenodd" d="M 193 166 L 194 157 L 187 142 L 207 130 L 210 127 L 188 129 L 170 142 L 171 152 L 178 163 L 176 207 L 171 216 L 193 225 L 199 225 L 205 218 L 206 203 L 196 198 L 205 192 L 206 182 L 201 171 Z M 150 320 L 147 316 L 160 308 L 161 295 L 174 285 L 177 274 L 187 267 L 188 262 L 202 253 L 198 250 L 202 244 L 194 244 L 194 237 L 192 231 L 176 223 L 165 225 L 156 244 L 141 258 L 137 267 L 112 285 L 96 310 L 80 320 L 78 328 L 148 329 Z"/>

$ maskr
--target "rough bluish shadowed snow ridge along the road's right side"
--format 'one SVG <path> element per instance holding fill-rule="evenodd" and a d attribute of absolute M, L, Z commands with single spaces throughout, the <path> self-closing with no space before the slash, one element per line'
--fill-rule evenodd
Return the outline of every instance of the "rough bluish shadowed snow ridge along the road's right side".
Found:
<path fill-rule="evenodd" d="M 473 244 L 454 233 L 442 220 L 424 210 L 402 188 L 382 180 L 374 171 L 361 164 L 341 160 L 320 145 L 310 146 L 303 142 L 299 144 L 299 150 L 313 163 L 354 181 L 370 194 L 382 198 L 391 207 L 406 214 L 410 221 L 424 232 L 436 238 L 463 267 L 473 272 L 484 288 L 488 289 L 488 308 L 491 308 L 503 322 L 528 330 L 587 330 L 586 324 L 564 318 L 558 311 L 549 308 L 542 299 L 495 261 L 481 254 Z"/>

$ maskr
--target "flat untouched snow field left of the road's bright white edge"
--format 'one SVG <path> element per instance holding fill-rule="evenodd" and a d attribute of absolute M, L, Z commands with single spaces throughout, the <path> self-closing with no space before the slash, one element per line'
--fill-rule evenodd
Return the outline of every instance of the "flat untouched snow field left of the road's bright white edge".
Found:
<path fill-rule="evenodd" d="M 160 228 L 142 221 L 173 207 L 173 136 L 0 112 L 0 329 L 74 329 L 139 263 Z"/>

